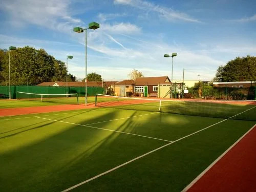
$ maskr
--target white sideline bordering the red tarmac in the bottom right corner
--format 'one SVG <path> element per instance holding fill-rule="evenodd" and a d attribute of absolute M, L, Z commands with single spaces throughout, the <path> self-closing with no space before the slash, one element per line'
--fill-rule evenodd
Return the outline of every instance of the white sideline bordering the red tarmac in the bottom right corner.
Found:
<path fill-rule="evenodd" d="M 256 126 L 256 124 L 254 124 L 251 129 L 249 129 L 242 137 L 240 137 L 234 144 L 232 144 L 223 154 L 221 154 L 220 157 L 218 157 L 214 162 L 212 162 L 200 175 L 198 175 L 193 181 L 191 181 L 191 183 L 189 183 L 181 192 L 185 192 L 187 191 L 191 186 L 193 186 L 199 179 L 201 179 L 201 177 L 203 177 L 203 175 L 208 172 L 208 170 L 214 166 L 224 155 L 226 155 L 231 148 L 234 147 L 234 145 L 236 145 L 239 141 L 241 141 L 254 127 Z"/>

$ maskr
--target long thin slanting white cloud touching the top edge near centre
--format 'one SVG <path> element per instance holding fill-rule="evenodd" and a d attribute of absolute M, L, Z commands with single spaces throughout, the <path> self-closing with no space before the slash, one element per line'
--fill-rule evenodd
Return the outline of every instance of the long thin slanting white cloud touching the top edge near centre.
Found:
<path fill-rule="evenodd" d="M 186 22 L 197 22 L 200 21 L 195 19 L 186 13 L 178 12 L 170 8 L 161 7 L 159 5 L 155 5 L 153 3 L 142 1 L 142 0 L 114 0 L 114 4 L 122 4 L 127 6 L 132 6 L 143 11 L 148 12 L 155 12 L 158 16 L 165 18 L 166 20 L 173 21 L 173 20 L 184 20 Z"/>

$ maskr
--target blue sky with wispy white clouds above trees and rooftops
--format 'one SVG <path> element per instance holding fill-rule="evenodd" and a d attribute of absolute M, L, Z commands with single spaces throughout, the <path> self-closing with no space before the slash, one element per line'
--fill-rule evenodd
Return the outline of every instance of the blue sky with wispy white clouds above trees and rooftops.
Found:
<path fill-rule="evenodd" d="M 69 73 L 104 80 L 128 79 L 136 69 L 149 76 L 211 80 L 220 65 L 256 56 L 256 1 L 245 0 L 2 0 L 0 49 L 31 46 L 66 61 Z"/>

